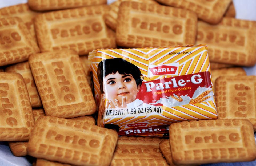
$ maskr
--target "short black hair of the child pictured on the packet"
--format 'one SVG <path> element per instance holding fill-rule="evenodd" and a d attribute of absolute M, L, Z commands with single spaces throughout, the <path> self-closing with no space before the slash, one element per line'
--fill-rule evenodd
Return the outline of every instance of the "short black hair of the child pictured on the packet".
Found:
<path fill-rule="evenodd" d="M 119 74 L 131 74 L 136 81 L 137 87 L 142 84 L 143 75 L 137 66 L 122 58 L 106 59 L 99 63 L 97 71 L 101 93 L 104 93 L 103 78 L 116 72 L 119 72 Z"/>

